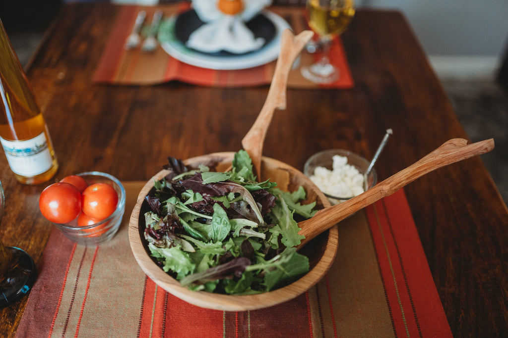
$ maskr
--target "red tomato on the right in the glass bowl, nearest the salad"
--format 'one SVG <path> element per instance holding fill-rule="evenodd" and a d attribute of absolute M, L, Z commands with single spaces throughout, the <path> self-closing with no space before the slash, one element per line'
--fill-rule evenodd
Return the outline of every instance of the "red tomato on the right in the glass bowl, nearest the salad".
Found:
<path fill-rule="evenodd" d="M 111 215 L 118 204 L 118 194 L 108 183 L 94 183 L 83 191 L 83 212 L 88 216 L 103 220 Z"/>

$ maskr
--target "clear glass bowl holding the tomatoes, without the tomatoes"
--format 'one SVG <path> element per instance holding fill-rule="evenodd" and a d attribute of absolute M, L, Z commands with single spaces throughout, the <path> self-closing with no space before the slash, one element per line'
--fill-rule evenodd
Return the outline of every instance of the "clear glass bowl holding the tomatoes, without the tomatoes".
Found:
<path fill-rule="evenodd" d="M 125 211 L 125 189 L 122 183 L 110 174 L 90 171 L 77 175 L 83 177 L 88 185 L 94 183 L 109 183 L 113 186 L 118 194 L 116 210 L 109 217 L 86 227 L 78 227 L 77 217 L 69 223 L 53 224 L 55 224 L 55 227 L 60 230 L 63 235 L 81 245 L 92 246 L 108 241 L 115 236 L 122 221 Z"/>

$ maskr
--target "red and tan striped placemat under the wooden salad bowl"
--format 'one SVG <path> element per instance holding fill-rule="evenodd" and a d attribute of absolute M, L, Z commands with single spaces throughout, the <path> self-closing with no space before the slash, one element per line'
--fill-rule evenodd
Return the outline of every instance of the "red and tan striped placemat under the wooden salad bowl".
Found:
<path fill-rule="evenodd" d="M 17 337 L 451 337 L 403 190 L 339 226 L 333 267 L 316 286 L 267 309 L 190 305 L 141 271 L 128 223 L 144 182 L 124 182 L 118 234 L 97 247 L 51 233 Z"/>

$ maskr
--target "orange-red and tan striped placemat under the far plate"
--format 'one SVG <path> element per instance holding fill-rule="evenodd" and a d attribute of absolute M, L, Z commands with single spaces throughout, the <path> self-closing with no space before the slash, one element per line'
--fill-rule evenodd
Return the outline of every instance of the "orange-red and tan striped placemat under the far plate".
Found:
<path fill-rule="evenodd" d="M 189 65 L 171 57 L 162 47 L 154 53 L 142 53 L 140 49 L 125 51 L 123 45 L 140 10 L 147 12 L 151 18 L 155 10 L 162 9 L 164 17 L 182 10 L 181 4 L 161 5 L 155 7 L 122 6 L 110 32 L 108 43 L 101 55 L 99 64 L 93 74 L 94 83 L 117 85 L 155 85 L 172 80 L 189 84 L 212 87 L 248 87 L 269 84 L 272 80 L 275 62 L 261 66 L 238 70 L 214 70 Z M 308 29 L 301 8 L 271 7 L 270 11 L 285 19 L 295 33 Z M 340 70 L 339 79 L 330 85 L 316 85 L 305 79 L 299 68 L 291 71 L 288 87 L 290 88 L 341 88 L 354 87 L 354 81 L 347 63 L 342 42 L 337 39 L 331 46 L 331 62 Z M 300 65 L 311 64 L 316 55 L 302 52 Z"/>

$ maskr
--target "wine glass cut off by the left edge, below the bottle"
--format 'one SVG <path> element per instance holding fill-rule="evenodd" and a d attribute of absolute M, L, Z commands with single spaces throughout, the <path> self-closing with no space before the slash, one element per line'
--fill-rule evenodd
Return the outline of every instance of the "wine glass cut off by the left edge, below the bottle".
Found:
<path fill-rule="evenodd" d="M 4 214 L 5 196 L 0 182 L 0 221 Z M 0 308 L 5 308 L 24 295 L 36 277 L 31 257 L 21 249 L 6 247 L 0 238 Z"/>

